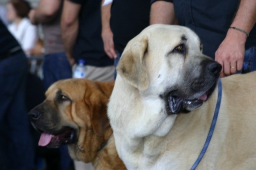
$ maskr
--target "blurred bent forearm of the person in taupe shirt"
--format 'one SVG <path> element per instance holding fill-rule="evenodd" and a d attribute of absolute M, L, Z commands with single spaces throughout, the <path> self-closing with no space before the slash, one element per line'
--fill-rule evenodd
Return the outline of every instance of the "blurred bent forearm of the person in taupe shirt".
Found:
<path fill-rule="evenodd" d="M 32 24 L 49 23 L 55 19 L 61 7 L 61 0 L 41 0 L 36 9 L 29 12 Z"/>

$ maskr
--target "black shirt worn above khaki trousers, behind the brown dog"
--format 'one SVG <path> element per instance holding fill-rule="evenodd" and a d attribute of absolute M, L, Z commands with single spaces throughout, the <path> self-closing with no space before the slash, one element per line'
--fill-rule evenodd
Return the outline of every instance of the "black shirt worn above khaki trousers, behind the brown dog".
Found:
<path fill-rule="evenodd" d="M 79 31 L 73 56 L 76 62 L 81 58 L 87 65 L 104 67 L 113 65 L 113 59 L 105 54 L 101 37 L 101 0 L 70 0 L 81 5 Z"/>

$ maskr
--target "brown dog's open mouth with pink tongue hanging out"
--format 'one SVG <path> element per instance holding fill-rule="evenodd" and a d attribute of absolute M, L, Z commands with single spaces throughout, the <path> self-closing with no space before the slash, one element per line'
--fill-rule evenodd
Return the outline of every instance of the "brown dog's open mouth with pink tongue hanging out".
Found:
<path fill-rule="evenodd" d="M 49 148 L 61 147 L 65 144 L 76 143 L 76 130 L 71 127 L 63 127 L 58 132 L 51 132 L 51 130 L 40 130 L 41 136 L 38 142 L 39 146 L 46 146 Z"/>

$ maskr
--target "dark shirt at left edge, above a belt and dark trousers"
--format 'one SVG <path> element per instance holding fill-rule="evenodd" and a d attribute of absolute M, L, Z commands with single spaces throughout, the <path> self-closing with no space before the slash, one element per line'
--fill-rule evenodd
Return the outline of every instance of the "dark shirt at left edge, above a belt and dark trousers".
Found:
<path fill-rule="evenodd" d="M 8 29 L 0 19 L 0 55 L 8 52 L 9 50 L 17 46 L 19 46 L 19 43 L 8 31 Z"/>

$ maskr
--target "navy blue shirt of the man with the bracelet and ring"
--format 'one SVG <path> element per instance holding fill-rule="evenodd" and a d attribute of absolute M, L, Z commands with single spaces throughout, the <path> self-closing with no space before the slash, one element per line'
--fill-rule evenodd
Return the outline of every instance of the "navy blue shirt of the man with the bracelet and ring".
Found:
<path fill-rule="evenodd" d="M 151 3 L 157 0 L 151 0 Z M 165 0 L 172 2 L 178 24 L 191 28 L 203 43 L 203 53 L 215 58 L 215 51 L 226 37 L 240 0 Z M 256 46 L 256 26 L 250 31 L 245 48 Z"/>

